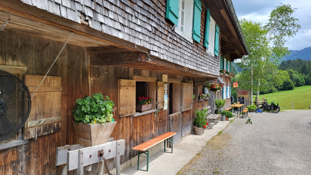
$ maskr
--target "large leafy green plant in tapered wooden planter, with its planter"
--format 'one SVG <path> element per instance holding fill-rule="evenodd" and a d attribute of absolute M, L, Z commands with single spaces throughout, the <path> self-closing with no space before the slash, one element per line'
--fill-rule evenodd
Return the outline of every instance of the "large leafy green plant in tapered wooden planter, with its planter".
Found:
<path fill-rule="evenodd" d="M 83 146 L 94 146 L 105 143 L 117 122 L 112 112 L 114 102 L 100 93 L 92 94 L 76 100 L 76 108 L 72 111 L 75 121 L 73 126 Z"/>

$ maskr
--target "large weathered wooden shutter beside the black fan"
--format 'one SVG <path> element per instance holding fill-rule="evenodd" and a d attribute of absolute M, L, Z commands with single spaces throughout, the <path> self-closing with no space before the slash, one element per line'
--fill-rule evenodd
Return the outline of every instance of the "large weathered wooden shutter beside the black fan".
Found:
<path fill-rule="evenodd" d="M 36 90 L 44 76 L 25 75 L 30 94 Z M 46 76 L 31 99 L 31 110 L 24 127 L 24 140 L 61 130 L 62 78 Z"/>

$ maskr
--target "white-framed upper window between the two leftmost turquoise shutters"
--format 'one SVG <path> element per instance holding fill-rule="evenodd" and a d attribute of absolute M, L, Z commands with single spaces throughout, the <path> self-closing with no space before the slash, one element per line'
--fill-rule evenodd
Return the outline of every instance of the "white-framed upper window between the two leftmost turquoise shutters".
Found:
<path fill-rule="evenodd" d="M 179 1 L 179 19 L 178 25 L 175 27 L 175 32 L 193 42 L 193 0 L 180 0 Z"/>

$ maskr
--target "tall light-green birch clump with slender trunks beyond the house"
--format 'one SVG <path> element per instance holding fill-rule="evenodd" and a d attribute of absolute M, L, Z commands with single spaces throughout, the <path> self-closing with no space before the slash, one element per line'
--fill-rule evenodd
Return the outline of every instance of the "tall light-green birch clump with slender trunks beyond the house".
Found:
<path fill-rule="evenodd" d="M 249 73 L 245 71 L 244 74 L 249 74 L 251 94 L 256 90 L 257 99 L 260 81 L 267 74 L 278 75 L 277 64 L 289 53 L 285 43 L 300 29 L 299 20 L 292 16 L 295 10 L 296 8 L 292 8 L 290 4 L 280 4 L 272 10 L 265 25 L 251 20 L 240 20 L 249 55 L 244 56 L 238 65 L 249 70 Z M 252 103 L 253 95 L 251 95 Z"/>

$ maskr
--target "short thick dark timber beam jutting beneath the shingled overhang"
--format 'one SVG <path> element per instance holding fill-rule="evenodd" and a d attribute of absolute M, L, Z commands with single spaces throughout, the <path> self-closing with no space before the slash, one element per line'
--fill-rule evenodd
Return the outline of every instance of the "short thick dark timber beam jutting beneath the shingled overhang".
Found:
<path fill-rule="evenodd" d="M 95 66 L 146 62 L 146 54 L 140 52 L 108 52 L 90 54 L 90 64 Z"/>

